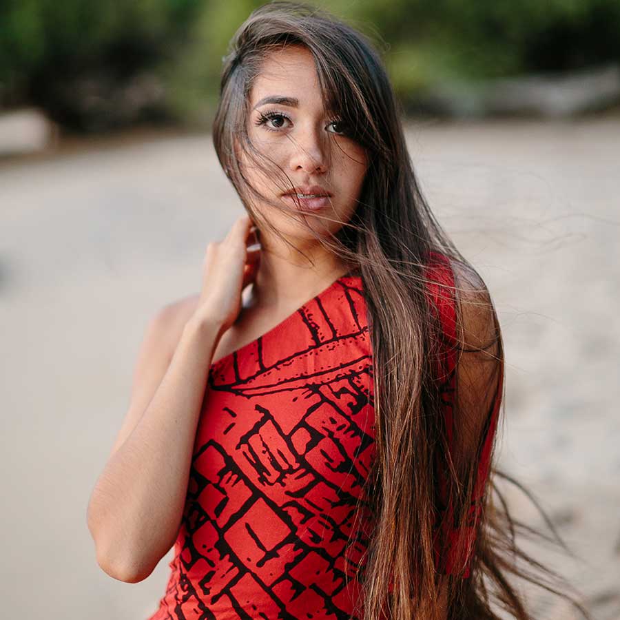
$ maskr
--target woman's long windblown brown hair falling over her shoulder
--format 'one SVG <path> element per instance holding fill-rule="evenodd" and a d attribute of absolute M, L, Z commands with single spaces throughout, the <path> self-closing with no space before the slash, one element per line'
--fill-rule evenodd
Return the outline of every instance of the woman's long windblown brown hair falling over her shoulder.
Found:
<path fill-rule="evenodd" d="M 269 200 L 248 182 L 240 153 L 282 189 L 294 186 L 285 171 L 252 145 L 247 132 L 251 85 L 265 57 L 286 45 L 311 52 L 326 109 L 338 112 L 347 135 L 369 154 L 351 220 L 340 223 L 329 238 L 316 235 L 329 251 L 359 267 L 373 347 L 376 459 L 366 481 L 365 506 L 375 526 L 360 564 L 364 597 L 356 612 L 365 620 L 384 614 L 397 620 L 434 619 L 440 617 L 440 583 L 447 583 L 450 619 L 499 619 L 494 603 L 515 618 L 530 619 L 523 597 L 508 579 L 514 575 L 565 597 L 589 617 L 558 586 L 568 588 L 564 579 L 516 544 L 517 532 L 554 539 L 513 519 L 495 484 L 501 477 L 528 494 L 493 462 L 497 433 L 490 425 L 501 421 L 504 390 L 504 345 L 495 308 L 482 278 L 437 223 L 420 191 L 401 110 L 370 39 L 306 4 L 272 2 L 252 12 L 224 59 L 213 140 L 225 174 L 259 229 L 269 227 L 278 235 L 252 207 L 252 198 Z M 276 203 L 273 208 L 287 211 Z M 433 252 L 448 258 L 451 282 L 433 278 L 426 269 Z M 439 287 L 438 298 L 456 309 L 452 340 L 446 341 L 429 302 L 429 286 Z M 476 326 L 484 329 L 476 331 Z M 477 334 L 475 342 L 468 333 Z M 438 380 L 437 360 L 446 344 L 456 355 L 454 368 L 470 370 L 453 370 Z M 442 391 L 446 381 L 455 393 L 449 429 Z M 487 435 L 492 435 L 491 444 L 484 443 Z M 481 469 L 481 462 L 486 467 Z M 555 544 L 564 546 L 536 505 Z M 437 548 L 442 550 L 439 558 Z M 519 567 L 519 561 L 527 568 Z M 448 577 L 440 581 L 440 575 Z"/>

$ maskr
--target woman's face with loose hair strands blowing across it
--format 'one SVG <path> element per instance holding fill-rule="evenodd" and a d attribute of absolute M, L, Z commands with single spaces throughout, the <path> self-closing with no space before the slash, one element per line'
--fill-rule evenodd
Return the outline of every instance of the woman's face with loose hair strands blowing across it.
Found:
<path fill-rule="evenodd" d="M 333 113 L 324 110 L 311 53 L 291 46 L 269 54 L 252 85 L 249 104 L 249 137 L 267 156 L 263 165 L 273 172 L 265 175 L 244 156 L 245 175 L 262 195 L 294 213 L 256 204 L 256 198 L 252 206 L 288 238 L 311 238 L 309 233 L 304 236 L 304 218 L 316 233 L 335 234 L 355 211 L 368 163 L 365 150 L 344 135 Z M 285 179 L 278 167 L 289 178 L 287 187 L 282 187 Z M 315 199 L 320 207 L 316 211 L 300 209 L 296 200 L 285 196 L 292 187 L 329 197 Z"/>

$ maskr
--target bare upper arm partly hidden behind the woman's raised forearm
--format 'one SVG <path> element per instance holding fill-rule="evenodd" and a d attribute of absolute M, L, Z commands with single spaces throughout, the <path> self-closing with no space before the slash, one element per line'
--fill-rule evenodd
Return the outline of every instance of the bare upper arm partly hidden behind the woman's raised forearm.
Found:
<path fill-rule="evenodd" d="M 194 305 L 194 296 L 184 298 L 167 304 L 149 320 L 134 366 L 129 408 L 110 456 L 123 445 L 151 402 Z"/>

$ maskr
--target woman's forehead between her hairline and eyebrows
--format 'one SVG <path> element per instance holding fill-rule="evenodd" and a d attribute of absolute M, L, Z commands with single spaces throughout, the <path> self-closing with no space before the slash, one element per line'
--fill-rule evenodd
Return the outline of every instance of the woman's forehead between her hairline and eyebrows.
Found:
<path fill-rule="evenodd" d="M 271 95 L 298 99 L 301 107 L 322 107 L 314 60 L 306 48 L 291 45 L 267 54 L 251 87 L 250 106 Z"/>

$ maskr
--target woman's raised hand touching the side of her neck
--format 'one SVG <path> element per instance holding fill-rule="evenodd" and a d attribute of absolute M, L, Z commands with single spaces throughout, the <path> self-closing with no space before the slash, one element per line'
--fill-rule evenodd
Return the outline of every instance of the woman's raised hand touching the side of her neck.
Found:
<path fill-rule="evenodd" d="M 220 325 L 224 333 L 241 310 L 241 293 L 256 277 L 260 247 L 249 249 L 258 238 L 247 215 L 237 218 L 223 241 L 207 245 L 203 286 L 194 319 Z"/>

